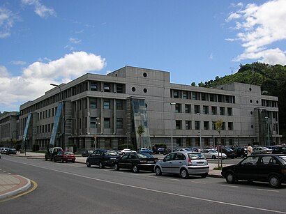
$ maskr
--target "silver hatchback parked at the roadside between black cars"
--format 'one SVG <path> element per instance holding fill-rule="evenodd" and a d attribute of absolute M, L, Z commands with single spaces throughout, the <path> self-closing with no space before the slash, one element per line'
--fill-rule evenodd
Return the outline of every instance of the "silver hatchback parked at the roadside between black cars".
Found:
<path fill-rule="evenodd" d="M 204 155 L 197 152 L 176 151 L 156 162 L 154 171 L 161 174 L 179 174 L 182 178 L 199 175 L 205 178 L 209 174 L 209 164 Z"/>

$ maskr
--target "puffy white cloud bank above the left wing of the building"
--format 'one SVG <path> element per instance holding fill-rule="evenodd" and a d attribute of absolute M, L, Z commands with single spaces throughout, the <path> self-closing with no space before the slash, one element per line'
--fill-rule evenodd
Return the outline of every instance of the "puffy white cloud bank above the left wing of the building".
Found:
<path fill-rule="evenodd" d="M 19 109 L 19 105 L 43 95 L 52 89 L 50 83 L 61 84 L 103 69 L 105 59 L 86 52 L 73 52 L 48 63 L 35 62 L 24 68 L 22 75 L 12 76 L 0 66 L 1 109 Z M 19 104 L 20 103 L 20 104 Z"/>

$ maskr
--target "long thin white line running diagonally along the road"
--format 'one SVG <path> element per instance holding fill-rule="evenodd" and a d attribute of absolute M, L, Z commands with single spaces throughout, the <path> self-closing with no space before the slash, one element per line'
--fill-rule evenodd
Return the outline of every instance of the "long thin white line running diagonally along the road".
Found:
<path fill-rule="evenodd" d="M 13 160 L 8 160 L 8 161 L 17 162 L 17 161 L 13 161 Z M 83 176 L 83 175 L 80 175 L 80 174 L 74 174 L 74 173 L 71 173 L 71 172 L 68 172 L 68 171 L 61 171 L 61 170 L 57 170 L 57 169 L 49 169 L 47 167 L 39 167 L 39 166 L 36 166 L 36 165 L 31 165 L 31 164 L 27 164 L 27 163 L 23 163 L 23 162 L 18 162 L 18 163 L 23 164 L 23 165 L 29 165 L 29 166 L 32 166 L 32 167 L 38 167 L 38 168 L 41 168 L 41 169 L 57 171 L 57 172 L 62 173 L 62 174 L 69 174 L 69 175 L 78 176 L 78 177 L 81 177 L 81 178 L 87 178 L 87 179 L 91 179 L 91 180 L 94 180 L 94 181 L 100 181 L 100 182 L 105 182 L 105 183 L 112 183 L 114 185 L 121 185 L 121 186 L 125 186 L 125 187 L 128 187 L 128 188 L 135 188 L 135 189 L 139 189 L 139 190 L 146 190 L 146 191 L 149 191 L 149 192 L 157 192 L 157 193 L 161 193 L 161 194 L 169 194 L 169 195 L 176 196 L 176 197 L 184 197 L 184 198 L 187 198 L 187 199 L 195 199 L 195 200 L 199 200 L 199 201 L 207 201 L 207 202 L 211 202 L 211 203 L 215 203 L 215 204 L 224 204 L 224 205 L 228 205 L 228 206 L 236 206 L 236 207 L 248 208 L 248 209 L 257 210 L 257 211 L 267 211 L 267 212 L 272 212 L 272 213 L 284 213 L 284 214 L 286 214 L 286 212 L 283 212 L 283 211 L 274 211 L 274 210 L 270 210 L 270 209 L 266 209 L 266 208 L 259 208 L 259 207 L 254 207 L 254 206 L 246 206 L 246 205 L 242 205 L 242 204 L 233 204 L 233 203 L 224 202 L 224 201 L 216 201 L 216 200 L 212 200 L 212 199 L 204 199 L 204 198 L 200 198 L 200 197 L 193 197 L 193 196 L 189 196 L 189 195 L 186 195 L 186 194 L 177 194 L 177 193 L 174 193 L 174 192 L 165 192 L 165 191 L 161 191 L 161 190 L 153 190 L 153 189 L 149 189 L 149 188 L 142 188 L 142 187 L 135 186 L 135 185 L 128 185 L 128 184 L 125 184 L 125 183 L 118 183 L 118 182 L 115 182 L 115 181 L 106 181 L 106 180 L 103 180 L 103 179 L 100 179 L 100 178 L 92 178 L 92 177 L 89 177 L 89 176 Z"/>

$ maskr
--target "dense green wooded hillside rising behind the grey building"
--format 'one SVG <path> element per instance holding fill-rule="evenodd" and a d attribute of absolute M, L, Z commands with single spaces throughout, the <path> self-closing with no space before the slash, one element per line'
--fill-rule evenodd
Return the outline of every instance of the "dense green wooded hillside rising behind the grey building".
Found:
<path fill-rule="evenodd" d="M 286 139 L 286 66 L 271 66 L 259 62 L 240 65 L 239 71 L 235 74 L 216 77 L 209 82 L 200 82 L 199 86 L 213 87 L 232 82 L 258 85 L 261 86 L 263 94 L 278 96 L 279 129 L 284 141 Z"/>

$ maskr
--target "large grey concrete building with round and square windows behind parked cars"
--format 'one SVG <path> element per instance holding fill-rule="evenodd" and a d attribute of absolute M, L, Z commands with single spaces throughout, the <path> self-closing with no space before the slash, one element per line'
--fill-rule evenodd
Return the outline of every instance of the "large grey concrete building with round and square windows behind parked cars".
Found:
<path fill-rule="evenodd" d="M 214 130 L 219 120 L 220 135 Z M 107 75 L 88 73 L 24 103 L 19 132 L 27 148 L 42 150 L 48 144 L 271 145 L 280 142 L 278 124 L 278 98 L 262 95 L 259 86 L 173 84 L 170 72 L 126 66 Z"/>

